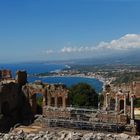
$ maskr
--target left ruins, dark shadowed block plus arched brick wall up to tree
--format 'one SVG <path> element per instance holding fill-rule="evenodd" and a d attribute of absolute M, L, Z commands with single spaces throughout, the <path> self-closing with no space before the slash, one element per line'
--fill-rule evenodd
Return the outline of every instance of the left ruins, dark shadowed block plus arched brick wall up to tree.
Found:
<path fill-rule="evenodd" d="M 65 108 L 68 93 L 63 84 L 27 83 L 26 71 L 0 70 L 0 129 L 15 123 L 30 123 L 37 114 L 37 96 L 43 97 L 42 114 L 49 116 L 50 107 Z M 7 126 L 7 127 L 6 127 Z"/>

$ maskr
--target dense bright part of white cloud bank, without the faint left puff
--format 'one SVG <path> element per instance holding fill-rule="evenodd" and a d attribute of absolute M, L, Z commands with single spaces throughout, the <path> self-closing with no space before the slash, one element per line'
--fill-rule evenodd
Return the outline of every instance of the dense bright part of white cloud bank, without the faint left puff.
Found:
<path fill-rule="evenodd" d="M 91 51 L 103 51 L 103 50 L 130 50 L 140 48 L 140 35 L 138 34 L 126 34 L 125 36 L 112 40 L 110 42 L 100 42 L 97 46 L 93 47 L 64 47 L 60 50 L 61 53 L 73 53 L 73 52 L 91 52 Z"/>

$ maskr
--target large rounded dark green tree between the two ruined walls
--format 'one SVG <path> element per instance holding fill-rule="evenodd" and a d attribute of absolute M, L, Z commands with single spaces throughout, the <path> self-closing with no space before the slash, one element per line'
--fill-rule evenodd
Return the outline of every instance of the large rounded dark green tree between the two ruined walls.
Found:
<path fill-rule="evenodd" d="M 74 106 L 98 106 L 98 94 L 86 83 L 78 83 L 69 88 L 70 104 Z"/>

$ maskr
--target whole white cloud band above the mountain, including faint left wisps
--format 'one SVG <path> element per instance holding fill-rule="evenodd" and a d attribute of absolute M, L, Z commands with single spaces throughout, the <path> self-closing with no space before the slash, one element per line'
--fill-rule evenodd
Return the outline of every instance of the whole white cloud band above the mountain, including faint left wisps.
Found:
<path fill-rule="evenodd" d="M 82 56 L 88 57 L 91 55 L 110 55 L 115 53 L 122 53 L 131 50 L 140 49 L 140 35 L 139 34 L 126 34 L 119 39 L 110 42 L 100 42 L 96 46 L 65 46 L 60 50 L 46 50 L 46 54 L 56 54 L 61 56 Z"/>

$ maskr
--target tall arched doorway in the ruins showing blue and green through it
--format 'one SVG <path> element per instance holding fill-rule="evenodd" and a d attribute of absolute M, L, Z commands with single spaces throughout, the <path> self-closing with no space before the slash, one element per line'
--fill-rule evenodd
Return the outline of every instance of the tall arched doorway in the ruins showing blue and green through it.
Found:
<path fill-rule="evenodd" d="M 30 100 L 32 112 L 34 114 L 42 114 L 43 95 L 41 93 L 35 93 L 31 96 Z"/>

